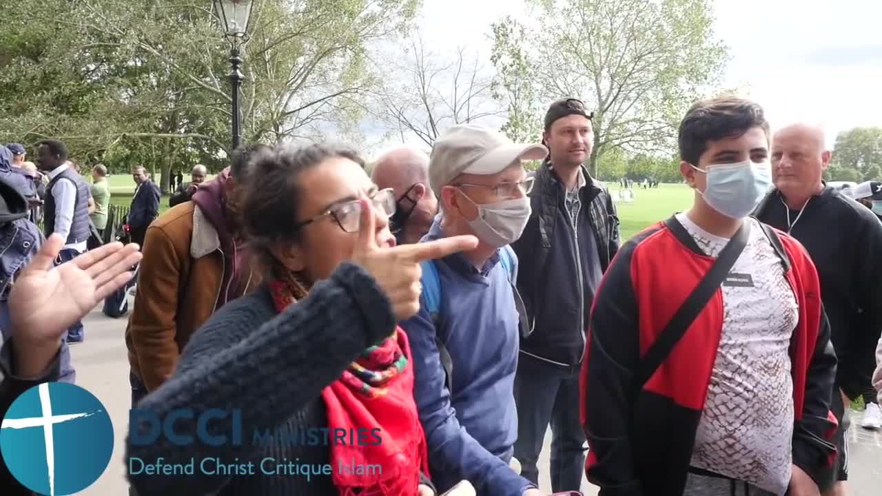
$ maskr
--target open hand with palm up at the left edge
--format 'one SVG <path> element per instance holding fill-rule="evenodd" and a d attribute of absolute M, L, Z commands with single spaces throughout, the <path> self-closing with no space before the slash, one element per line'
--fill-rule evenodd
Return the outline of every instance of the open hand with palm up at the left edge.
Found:
<path fill-rule="evenodd" d="M 105 244 L 53 268 L 64 239 L 52 235 L 19 274 L 9 296 L 16 342 L 57 342 L 64 330 L 131 281 L 137 244 Z"/>

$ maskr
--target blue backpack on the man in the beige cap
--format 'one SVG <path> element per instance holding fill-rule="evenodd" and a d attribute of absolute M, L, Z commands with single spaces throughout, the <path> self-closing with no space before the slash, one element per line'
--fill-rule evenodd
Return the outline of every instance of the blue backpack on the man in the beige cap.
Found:
<path fill-rule="evenodd" d="M 527 320 L 527 309 L 524 306 L 524 301 L 520 298 L 520 293 L 518 292 L 518 272 L 514 268 L 514 263 L 512 262 L 513 257 L 514 251 L 511 246 L 505 245 L 499 251 L 499 263 L 508 274 L 508 282 L 512 285 L 514 306 L 518 311 L 519 317 L 520 335 L 526 338 L 530 335 L 532 329 Z M 437 328 L 441 313 L 441 280 L 438 278 L 437 267 L 435 267 L 434 261 L 423 260 L 420 262 L 420 267 L 422 268 L 422 278 L 420 280 L 422 283 L 422 298 L 425 301 L 426 310 L 432 318 L 432 323 Z M 450 352 L 447 351 L 445 343 L 441 341 L 437 333 L 435 334 L 435 344 L 438 349 L 438 355 L 441 358 L 441 366 L 444 367 L 447 390 L 452 393 L 453 360 L 450 356 Z"/>

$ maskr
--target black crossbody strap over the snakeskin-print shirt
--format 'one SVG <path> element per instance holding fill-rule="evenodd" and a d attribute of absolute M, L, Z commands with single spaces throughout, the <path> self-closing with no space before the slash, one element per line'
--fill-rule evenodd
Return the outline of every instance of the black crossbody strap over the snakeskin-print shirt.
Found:
<path fill-rule="evenodd" d="M 665 225 L 669 229 L 673 229 L 669 225 L 672 222 L 679 226 L 679 222 L 676 222 L 675 219 L 665 221 Z M 726 280 L 729 270 L 735 265 L 741 252 L 744 252 L 744 246 L 747 245 L 747 241 L 751 236 L 751 223 L 753 222 L 750 219 L 746 219 L 742 223 L 741 228 L 737 230 L 735 236 L 722 249 L 720 256 L 714 261 L 714 265 L 707 271 L 699 285 L 692 289 L 689 297 L 686 297 L 686 300 L 674 313 L 668 325 L 662 329 L 662 333 L 658 335 L 647 354 L 640 361 L 634 377 L 635 387 L 638 389 L 643 387 L 655 371 L 658 370 L 659 366 L 668 359 L 676 343 L 686 334 L 686 329 L 691 326 L 692 322 L 699 316 L 699 313 L 704 310 L 707 302 L 714 296 L 717 289 L 720 289 L 720 285 Z"/>

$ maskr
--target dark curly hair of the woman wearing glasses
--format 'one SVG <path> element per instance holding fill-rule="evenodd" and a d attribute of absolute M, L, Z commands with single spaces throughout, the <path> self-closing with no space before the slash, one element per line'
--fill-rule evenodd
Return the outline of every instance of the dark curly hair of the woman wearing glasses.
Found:
<path fill-rule="evenodd" d="M 266 257 L 272 257 L 272 244 L 295 242 L 299 237 L 292 227 L 300 220 L 300 175 L 333 157 L 349 159 L 364 168 L 364 160 L 355 150 L 326 144 L 279 145 L 258 150 L 251 157 L 243 191 L 243 228 L 251 249 L 263 261 L 270 261 Z"/>

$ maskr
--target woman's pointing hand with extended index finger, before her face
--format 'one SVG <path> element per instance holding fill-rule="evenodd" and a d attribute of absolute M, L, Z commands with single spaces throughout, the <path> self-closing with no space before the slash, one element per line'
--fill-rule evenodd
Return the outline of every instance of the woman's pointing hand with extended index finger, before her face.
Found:
<path fill-rule="evenodd" d="M 362 226 L 352 252 L 352 260 L 374 277 L 392 301 L 398 320 L 408 319 L 420 310 L 420 262 L 440 259 L 456 252 L 474 250 L 474 236 L 445 237 L 429 243 L 405 244 L 394 248 L 377 245 L 377 220 L 370 201 L 362 200 Z"/>

